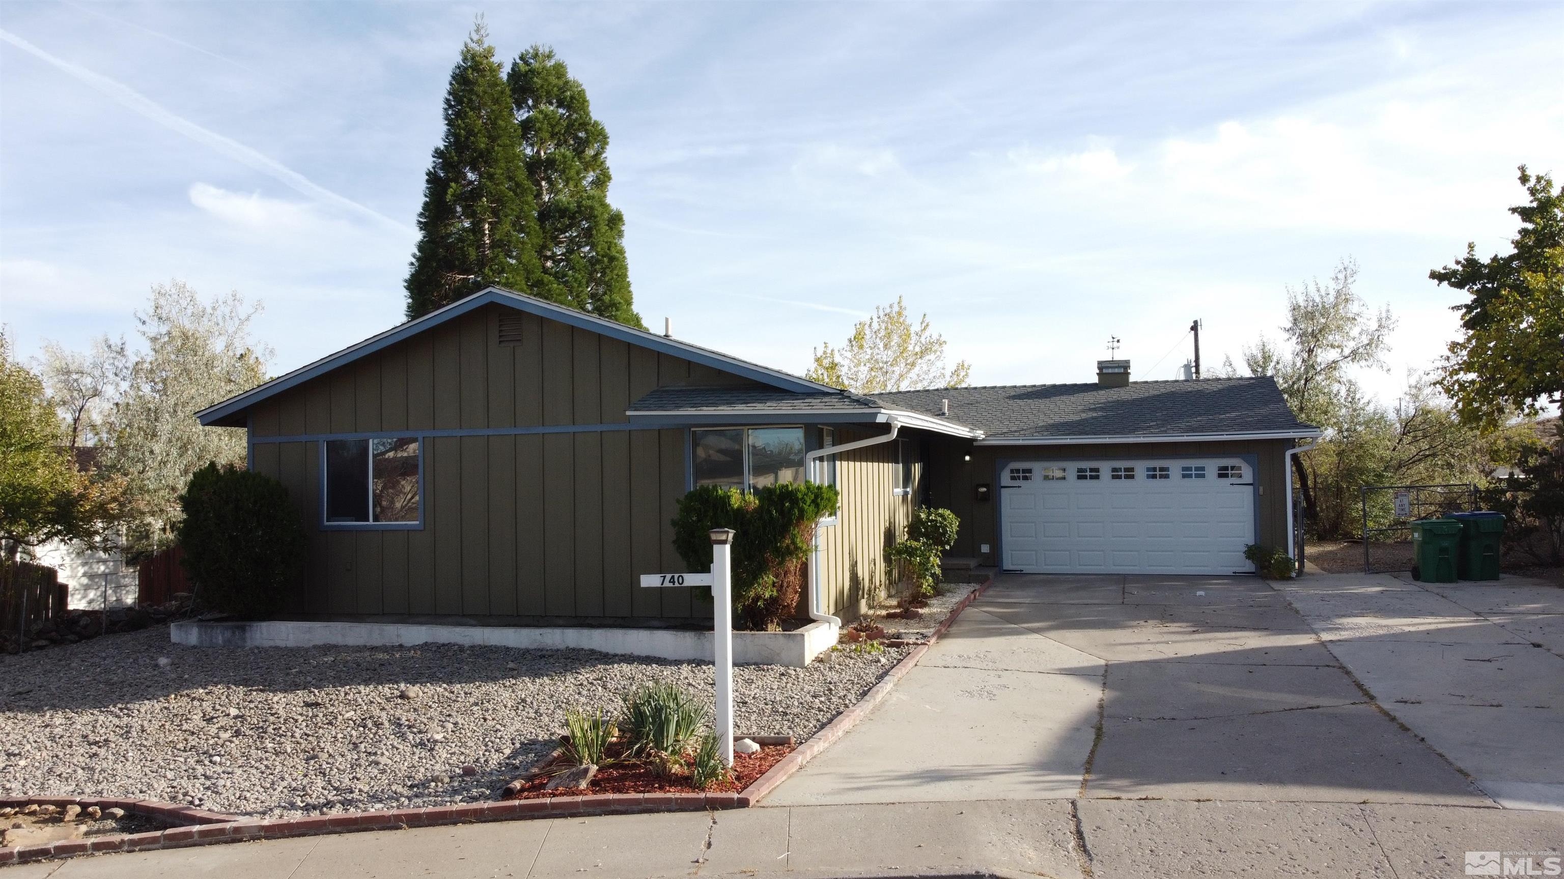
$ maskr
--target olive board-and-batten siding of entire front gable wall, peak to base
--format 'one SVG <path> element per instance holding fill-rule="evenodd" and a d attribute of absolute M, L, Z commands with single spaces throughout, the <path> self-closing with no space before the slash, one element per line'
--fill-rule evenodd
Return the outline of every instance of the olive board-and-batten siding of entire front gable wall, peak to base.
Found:
<path fill-rule="evenodd" d="M 471 618 L 690 618 L 690 590 L 641 590 L 673 552 L 687 432 L 425 436 L 424 524 L 321 527 L 322 433 L 626 424 L 658 385 L 744 383 L 704 364 L 490 307 L 305 382 L 250 414 L 253 468 L 288 486 L 310 536 L 289 612 Z"/>

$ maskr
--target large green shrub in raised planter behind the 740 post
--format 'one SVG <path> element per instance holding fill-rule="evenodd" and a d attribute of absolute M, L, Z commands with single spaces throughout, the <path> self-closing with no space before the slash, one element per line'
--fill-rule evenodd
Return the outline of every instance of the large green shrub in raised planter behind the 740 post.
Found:
<path fill-rule="evenodd" d="M 837 508 L 829 485 L 769 485 L 752 494 L 702 485 L 679 499 L 674 551 L 690 571 L 712 569 L 712 529 L 734 529 L 734 616 L 744 629 L 776 629 L 798 607 L 810 541 Z"/>

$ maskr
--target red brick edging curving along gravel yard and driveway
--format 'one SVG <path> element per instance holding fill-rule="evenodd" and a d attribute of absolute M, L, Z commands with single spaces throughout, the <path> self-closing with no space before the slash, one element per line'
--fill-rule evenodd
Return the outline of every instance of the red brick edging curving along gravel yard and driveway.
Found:
<path fill-rule="evenodd" d="M 956 602 L 951 613 L 929 635 L 927 643 L 913 648 L 895 668 L 885 673 L 879 683 L 870 688 L 851 709 L 826 724 L 809 741 L 799 744 L 776 766 L 738 793 L 597 793 L 586 796 L 555 796 L 547 799 L 508 799 L 496 802 L 466 802 L 458 805 L 430 805 L 424 809 L 389 809 L 382 812 L 343 812 L 336 815 L 302 815 L 297 818 L 242 818 L 206 812 L 191 805 L 177 805 L 155 799 L 106 799 L 75 796 L 0 796 L 0 807 L 27 805 L 80 805 L 88 809 L 124 809 L 133 815 L 158 818 L 172 827 L 144 834 L 105 834 L 81 840 L 61 840 L 33 846 L 0 848 L 0 866 L 48 857 L 99 854 L 114 851 L 147 851 L 185 848 L 208 843 L 239 840 L 272 840 L 283 837 L 307 837 L 349 831 L 399 831 L 405 827 L 433 827 L 441 824 L 466 824 L 477 821 L 513 821 L 518 818 L 579 818 L 586 815 L 630 815 L 646 812 L 704 812 L 712 809 L 746 809 L 760 802 L 793 773 L 804 768 L 815 755 L 859 724 L 877 705 L 896 682 L 901 680 L 929 644 L 940 640 L 951 622 L 993 583 L 993 577 L 978 583 L 973 591 Z"/>

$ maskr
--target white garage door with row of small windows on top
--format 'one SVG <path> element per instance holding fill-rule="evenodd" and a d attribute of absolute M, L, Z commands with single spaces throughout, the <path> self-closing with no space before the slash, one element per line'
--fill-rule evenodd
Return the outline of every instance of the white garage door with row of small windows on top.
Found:
<path fill-rule="evenodd" d="M 1004 566 L 1040 574 L 1251 571 L 1242 458 L 1018 461 L 999 474 Z"/>

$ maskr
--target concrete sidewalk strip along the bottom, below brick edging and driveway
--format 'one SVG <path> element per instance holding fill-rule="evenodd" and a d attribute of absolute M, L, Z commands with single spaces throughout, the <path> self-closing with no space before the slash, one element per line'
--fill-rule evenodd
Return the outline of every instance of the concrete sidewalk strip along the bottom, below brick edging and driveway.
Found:
<path fill-rule="evenodd" d="M 1364 876 L 1564 846 L 1564 815 L 1439 805 L 1045 799 L 810 805 L 424 827 L 81 857 L 5 879 Z M 1541 860 L 1537 860 L 1541 868 Z"/>

